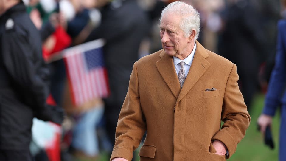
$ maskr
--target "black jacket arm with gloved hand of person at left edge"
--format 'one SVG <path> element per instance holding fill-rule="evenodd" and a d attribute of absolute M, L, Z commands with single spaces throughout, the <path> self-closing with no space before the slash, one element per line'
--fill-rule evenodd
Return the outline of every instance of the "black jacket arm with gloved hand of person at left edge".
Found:
<path fill-rule="evenodd" d="M 35 117 L 61 124 L 63 109 L 49 106 L 49 69 L 44 64 L 41 42 L 29 41 L 24 33 L 10 32 L 2 37 L 4 66 L 21 100 L 34 111 Z"/>

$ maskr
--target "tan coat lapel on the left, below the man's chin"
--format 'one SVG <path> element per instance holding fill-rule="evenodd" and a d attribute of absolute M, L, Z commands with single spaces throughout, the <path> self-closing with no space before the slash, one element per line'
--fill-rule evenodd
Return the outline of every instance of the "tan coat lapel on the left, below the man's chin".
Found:
<path fill-rule="evenodd" d="M 181 87 L 175 71 L 173 57 L 166 55 L 164 50 L 161 52 L 160 57 L 161 59 L 155 63 L 156 67 L 173 95 L 178 99 Z"/>

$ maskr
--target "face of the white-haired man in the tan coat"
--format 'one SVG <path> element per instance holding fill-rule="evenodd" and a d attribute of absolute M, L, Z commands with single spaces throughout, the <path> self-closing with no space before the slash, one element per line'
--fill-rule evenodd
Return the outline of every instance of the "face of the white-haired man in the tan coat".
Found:
<path fill-rule="evenodd" d="M 186 57 L 189 51 L 189 38 L 185 37 L 184 31 L 180 28 L 182 17 L 178 15 L 165 14 L 160 24 L 160 36 L 162 47 L 167 55 Z"/>

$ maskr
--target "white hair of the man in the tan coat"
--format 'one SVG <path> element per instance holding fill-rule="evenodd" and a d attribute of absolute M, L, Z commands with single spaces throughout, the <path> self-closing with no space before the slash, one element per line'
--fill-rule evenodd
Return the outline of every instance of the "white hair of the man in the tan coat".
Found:
<path fill-rule="evenodd" d="M 192 34 L 192 30 L 196 30 L 195 40 L 200 33 L 200 13 L 191 5 L 181 1 L 170 3 L 161 13 L 160 22 L 164 14 L 176 14 L 182 16 L 180 28 L 184 31 L 185 36 L 189 37 Z"/>

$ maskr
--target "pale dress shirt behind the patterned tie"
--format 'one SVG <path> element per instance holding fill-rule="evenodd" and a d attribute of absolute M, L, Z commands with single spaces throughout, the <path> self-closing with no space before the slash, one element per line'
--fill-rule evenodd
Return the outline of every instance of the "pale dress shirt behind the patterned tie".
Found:
<path fill-rule="evenodd" d="M 184 63 L 185 63 L 184 68 L 185 68 L 185 73 L 186 73 L 186 77 L 187 77 L 187 75 L 189 73 L 189 70 L 190 70 L 190 67 L 192 65 L 192 61 L 193 61 L 193 58 L 194 58 L 194 55 L 195 55 L 195 52 L 196 52 L 196 48 L 197 48 L 197 45 L 195 43 L 193 51 L 184 60 L 181 60 L 181 59 L 173 56 L 173 61 L 174 61 L 174 65 L 175 65 L 175 69 L 176 69 L 177 75 L 179 74 L 179 71 L 181 70 L 181 66 L 180 66 L 179 63 L 181 63 L 181 61 L 184 61 Z"/>

